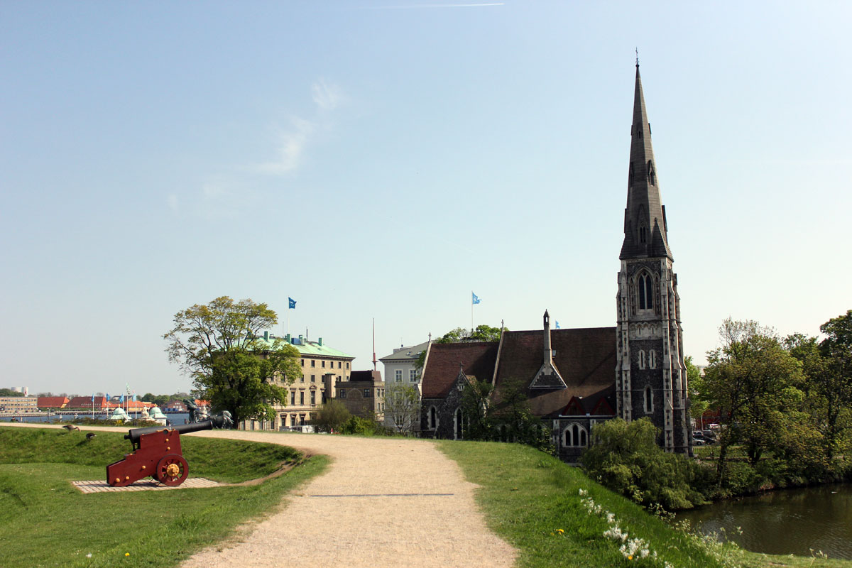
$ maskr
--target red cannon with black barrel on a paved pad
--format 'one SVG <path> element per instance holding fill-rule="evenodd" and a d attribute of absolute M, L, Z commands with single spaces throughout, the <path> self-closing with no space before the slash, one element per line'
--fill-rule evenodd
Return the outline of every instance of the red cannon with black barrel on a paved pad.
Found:
<path fill-rule="evenodd" d="M 107 483 L 124 487 L 145 477 L 164 485 L 181 485 L 189 475 L 189 464 L 181 453 L 181 433 L 211 430 L 213 421 L 175 427 L 134 428 L 124 435 L 133 445 L 133 453 L 107 466 Z"/>

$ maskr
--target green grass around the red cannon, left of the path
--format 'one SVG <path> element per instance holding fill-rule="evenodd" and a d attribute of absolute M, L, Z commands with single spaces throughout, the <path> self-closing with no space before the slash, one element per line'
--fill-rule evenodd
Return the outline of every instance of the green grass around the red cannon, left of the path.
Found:
<path fill-rule="evenodd" d="M 181 445 L 193 477 L 227 483 L 302 459 L 273 444 L 187 435 Z M 327 464 L 314 456 L 254 486 L 86 495 L 72 487 L 72 480 L 104 479 L 107 463 L 129 452 L 122 433 L 97 432 L 89 441 L 80 432 L 0 427 L 0 566 L 175 566 L 272 513 Z"/>

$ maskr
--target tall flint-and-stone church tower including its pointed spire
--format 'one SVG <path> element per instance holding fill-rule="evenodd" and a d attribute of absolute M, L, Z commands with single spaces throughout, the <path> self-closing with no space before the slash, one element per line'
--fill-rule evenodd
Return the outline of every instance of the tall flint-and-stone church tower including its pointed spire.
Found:
<path fill-rule="evenodd" d="M 691 453 L 677 275 L 672 271 L 638 60 L 630 137 L 617 297 L 617 411 L 627 422 L 650 418 L 666 451 Z"/>

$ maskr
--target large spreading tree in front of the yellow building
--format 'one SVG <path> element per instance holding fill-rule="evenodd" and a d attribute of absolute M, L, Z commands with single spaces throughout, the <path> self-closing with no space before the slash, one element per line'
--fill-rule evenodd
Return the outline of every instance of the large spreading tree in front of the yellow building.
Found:
<path fill-rule="evenodd" d="M 281 385 L 302 376 L 295 347 L 260 336 L 278 323 L 267 304 L 222 296 L 176 313 L 174 323 L 163 336 L 169 360 L 193 378 L 193 393 L 231 413 L 234 426 L 273 419 L 273 404 L 286 404 Z"/>

